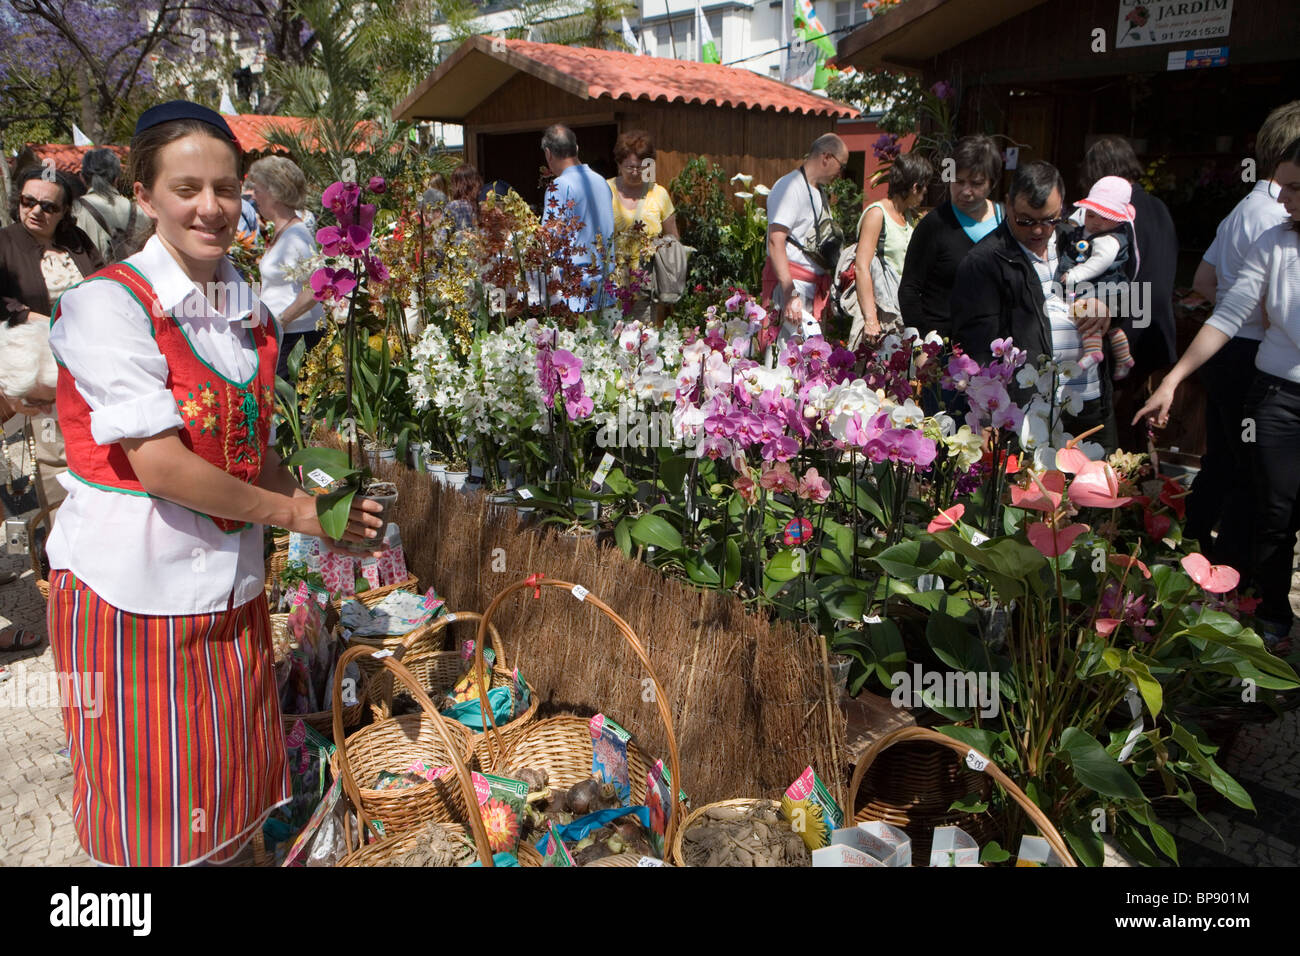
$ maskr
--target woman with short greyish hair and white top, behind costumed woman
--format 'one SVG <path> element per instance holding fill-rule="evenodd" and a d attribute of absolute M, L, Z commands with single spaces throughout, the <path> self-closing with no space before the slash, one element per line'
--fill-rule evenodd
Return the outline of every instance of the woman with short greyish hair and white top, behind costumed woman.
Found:
<path fill-rule="evenodd" d="M 307 206 L 307 177 L 292 160 L 266 156 L 248 168 L 247 179 L 259 212 L 274 226 L 260 263 L 261 300 L 285 333 L 276 373 L 286 378 L 289 354 L 299 339 L 306 339 L 304 350 L 311 351 L 325 334 L 317 329 L 325 310 L 312 295 L 311 285 L 286 274 L 303 259 L 316 255 L 316 237 L 298 213 Z"/>

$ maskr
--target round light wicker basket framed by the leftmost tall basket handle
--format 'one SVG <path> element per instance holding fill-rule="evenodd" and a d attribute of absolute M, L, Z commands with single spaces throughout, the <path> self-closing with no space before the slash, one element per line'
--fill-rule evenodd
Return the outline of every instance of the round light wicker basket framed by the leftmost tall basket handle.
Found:
<path fill-rule="evenodd" d="M 460 788 L 448 778 L 419 783 L 406 790 L 361 788 L 358 780 L 367 784 L 381 771 L 400 773 L 416 758 L 424 758 L 434 766 L 456 766 L 458 761 L 468 763 L 473 757 L 474 744 L 469 731 L 459 723 L 443 718 L 433 704 L 417 714 L 391 717 L 387 721 L 361 727 L 351 736 L 343 728 L 343 671 L 348 663 L 374 652 L 365 646 L 348 648 L 334 667 L 334 754 L 330 757 L 330 770 L 343 778 L 352 805 L 358 808 L 363 826 L 369 827 L 372 819 L 380 819 L 390 836 L 398 836 L 410 830 L 417 830 L 425 823 L 459 823 L 465 819 L 465 800 Z M 378 658 L 384 667 L 398 667 L 395 671 L 408 684 L 413 684 L 410 671 L 393 661 L 391 656 Z M 428 700 L 422 691 L 415 695 L 421 704 Z M 467 778 L 468 779 L 468 778 Z M 471 790 L 471 792 L 473 792 Z"/>

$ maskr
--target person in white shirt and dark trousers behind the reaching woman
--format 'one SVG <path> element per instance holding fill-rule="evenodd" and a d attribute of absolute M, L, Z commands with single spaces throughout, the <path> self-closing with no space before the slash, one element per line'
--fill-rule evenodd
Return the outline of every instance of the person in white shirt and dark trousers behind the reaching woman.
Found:
<path fill-rule="evenodd" d="M 1295 139 L 1300 139 L 1300 100 L 1278 107 L 1264 121 L 1254 148 L 1260 181 L 1219 222 L 1196 269 L 1192 287 L 1216 308 L 1236 281 L 1251 246 L 1287 220 L 1273 174 L 1278 156 Z M 1256 306 L 1232 341 L 1196 373 L 1205 388 L 1205 454 L 1187 497 L 1184 533 L 1200 541 L 1210 561 L 1236 568 L 1251 567 L 1253 559 L 1253 490 L 1242 480 L 1239 466 L 1247 460 L 1242 444 L 1244 402 L 1254 381 L 1264 330 L 1264 312 Z M 1210 533 L 1216 525 L 1217 540 Z"/>

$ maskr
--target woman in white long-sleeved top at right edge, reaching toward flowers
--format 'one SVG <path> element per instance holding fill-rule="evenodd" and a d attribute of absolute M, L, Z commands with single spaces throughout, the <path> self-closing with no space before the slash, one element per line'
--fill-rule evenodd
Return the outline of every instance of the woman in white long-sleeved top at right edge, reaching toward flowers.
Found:
<path fill-rule="evenodd" d="M 1300 139 L 1282 152 L 1273 179 L 1290 221 L 1266 230 L 1251 247 L 1231 290 L 1134 423 L 1153 415 L 1164 427 L 1179 382 L 1227 345 L 1262 306 L 1266 330 L 1242 428 L 1253 432 L 1245 447 L 1256 490 L 1251 575 L 1261 598 L 1256 617 L 1265 640 L 1280 645 L 1294 622 L 1291 564 L 1300 531 Z"/>

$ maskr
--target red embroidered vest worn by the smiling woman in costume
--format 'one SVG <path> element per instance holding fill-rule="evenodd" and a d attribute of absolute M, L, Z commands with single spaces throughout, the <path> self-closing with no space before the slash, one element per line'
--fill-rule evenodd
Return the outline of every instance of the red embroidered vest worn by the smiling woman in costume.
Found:
<path fill-rule="evenodd" d="M 244 382 L 233 382 L 199 358 L 185 329 L 159 302 L 153 286 L 125 263 L 108 265 L 84 281 L 107 278 L 118 282 L 135 297 L 150 317 L 159 351 L 166 359 L 166 386 L 176 395 L 183 424 L 181 441 L 196 455 L 240 481 L 252 484 L 261 475 L 261 462 L 270 434 L 274 411 L 276 360 L 280 346 L 273 319 L 257 303 L 261 321 L 252 326 L 257 350 L 257 369 Z M 51 325 L 58 321 L 56 307 Z M 77 390 L 72 372 L 58 365 L 58 424 L 64 431 L 68 471 L 86 484 L 127 494 L 148 494 L 131 470 L 118 442 L 100 445 L 91 436 L 90 406 Z M 226 533 L 243 531 L 248 523 L 208 515 Z"/>

